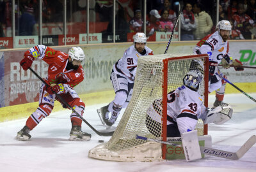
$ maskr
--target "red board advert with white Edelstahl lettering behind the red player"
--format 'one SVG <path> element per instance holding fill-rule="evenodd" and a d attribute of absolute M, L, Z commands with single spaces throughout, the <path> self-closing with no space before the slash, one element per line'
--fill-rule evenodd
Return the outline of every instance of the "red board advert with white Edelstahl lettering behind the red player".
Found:
<path fill-rule="evenodd" d="M 61 51 L 67 53 L 68 49 L 69 48 L 61 48 Z M 60 48 L 58 48 L 58 50 L 60 50 Z M 3 78 L 1 78 L 0 75 L 0 84 L 4 85 L 4 89 L 1 89 L 4 90 L 4 106 L 31 103 L 39 99 L 39 90 L 42 82 L 36 78 L 31 71 L 24 71 L 20 66 L 20 61 L 25 51 L 26 50 L 14 50 L 12 52 L 4 52 L 4 58 L 2 55 L 3 52 L 0 52 L 0 57 L 4 59 L 4 68 L 0 68 L 0 72 L 4 73 L 4 83 L 1 83 Z M 0 59 L 0 65 L 2 65 L 2 59 Z M 47 77 L 48 64 L 42 61 L 42 59 L 35 59 L 31 68 L 42 78 Z M 1 69 L 4 71 L 1 71 Z"/>

